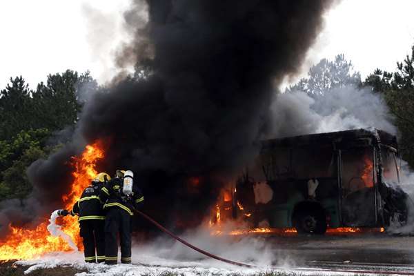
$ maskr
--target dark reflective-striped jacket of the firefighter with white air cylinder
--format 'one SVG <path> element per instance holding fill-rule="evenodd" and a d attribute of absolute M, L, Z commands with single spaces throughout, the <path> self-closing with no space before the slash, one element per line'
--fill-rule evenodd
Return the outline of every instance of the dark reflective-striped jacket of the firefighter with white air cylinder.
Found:
<path fill-rule="evenodd" d="M 132 188 L 132 196 L 127 197 L 122 193 L 123 179 L 112 178 L 101 189 L 99 198 L 104 203 L 103 209 L 121 208 L 129 215 L 134 215 L 133 209 L 138 208 L 144 203 L 144 196 L 141 190 L 134 185 Z"/>

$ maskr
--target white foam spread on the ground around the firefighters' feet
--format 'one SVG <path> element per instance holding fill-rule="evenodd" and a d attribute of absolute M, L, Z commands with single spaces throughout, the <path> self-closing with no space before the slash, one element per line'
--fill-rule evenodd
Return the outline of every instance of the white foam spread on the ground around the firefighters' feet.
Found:
<path fill-rule="evenodd" d="M 313 276 L 313 275 L 355 275 L 355 273 L 335 273 L 322 270 L 302 270 L 301 268 L 272 268 L 258 266 L 257 268 L 242 268 L 215 262 L 210 259 L 200 259 L 198 262 L 179 262 L 173 259 L 164 259 L 158 256 L 147 255 L 147 253 L 132 255 L 132 264 L 88 264 L 83 262 L 81 252 L 74 253 L 51 253 L 42 259 L 31 261 L 18 261 L 17 264 L 29 266 L 25 274 L 41 268 L 56 268 L 71 266 L 86 272 L 77 273 L 77 276 L 137 276 L 152 275 L 159 276 L 163 273 L 175 273 L 188 276 L 219 276 L 219 275 L 259 275 L 262 273 L 283 273 L 289 276 Z"/>

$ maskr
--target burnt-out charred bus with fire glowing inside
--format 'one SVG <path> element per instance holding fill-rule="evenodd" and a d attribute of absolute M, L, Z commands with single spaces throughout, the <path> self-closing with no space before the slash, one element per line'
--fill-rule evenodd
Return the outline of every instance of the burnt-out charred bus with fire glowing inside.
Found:
<path fill-rule="evenodd" d="M 257 173 L 233 190 L 233 217 L 254 227 L 323 234 L 327 227 L 386 227 L 406 220 L 395 136 L 346 130 L 262 141 Z"/>

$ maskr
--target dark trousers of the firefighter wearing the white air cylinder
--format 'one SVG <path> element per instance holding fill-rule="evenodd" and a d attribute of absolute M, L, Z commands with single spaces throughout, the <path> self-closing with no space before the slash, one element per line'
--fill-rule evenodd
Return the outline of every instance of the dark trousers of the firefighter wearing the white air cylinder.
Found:
<path fill-rule="evenodd" d="M 121 263 L 131 262 L 131 216 L 117 206 L 107 209 L 105 217 L 105 263 L 117 264 L 118 243 L 121 244 Z"/>

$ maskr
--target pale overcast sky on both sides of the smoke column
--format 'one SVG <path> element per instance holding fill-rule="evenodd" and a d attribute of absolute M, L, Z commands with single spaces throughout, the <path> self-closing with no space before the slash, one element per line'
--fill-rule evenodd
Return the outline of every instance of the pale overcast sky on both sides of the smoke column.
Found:
<path fill-rule="evenodd" d="M 114 51 L 128 41 L 122 12 L 130 0 L 0 1 L 0 89 L 23 75 L 31 88 L 50 73 L 90 70 L 99 82 L 115 74 Z M 414 1 L 344 0 L 326 14 L 326 26 L 302 70 L 344 53 L 362 77 L 395 70 L 414 44 Z"/>

